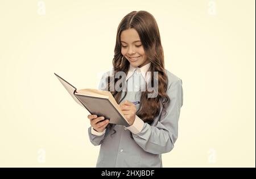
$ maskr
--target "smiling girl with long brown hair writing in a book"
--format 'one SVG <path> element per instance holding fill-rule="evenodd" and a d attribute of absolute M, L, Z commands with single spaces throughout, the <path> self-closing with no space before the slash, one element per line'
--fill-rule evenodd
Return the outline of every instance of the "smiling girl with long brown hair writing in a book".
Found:
<path fill-rule="evenodd" d="M 114 83 L 122 80 L 125 85 L 112 91 L 110 76 L 117 72 L 125 72 L 126 78 L 114 78 Z M 158 72 L 158 78 L 151 72 Z M 155 80 L 155 97 L 149 97 L 152 93 L 148 89 L 139 89 Z M 96 166 L 162 167 L 161 154 L 170 152 L 177 139 L 183 88 L 181 79 L 164 69 L 158 25 L 147 11 L 132 11 L 121 20 L 113 70 L 101 78 L 99 89 L 111 91 L 130 126 L 109 124 L 104 116 L 88 115 L 89 139 L 101 145 Z M 134 101 L 140 103 L 135 105 Z"/>

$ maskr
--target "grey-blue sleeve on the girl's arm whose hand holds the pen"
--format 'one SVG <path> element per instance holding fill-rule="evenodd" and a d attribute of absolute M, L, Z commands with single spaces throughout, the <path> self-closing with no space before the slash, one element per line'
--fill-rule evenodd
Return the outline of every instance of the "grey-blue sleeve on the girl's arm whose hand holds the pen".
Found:
<path fill-rule="evenodd" d="M 183 106 L 182 81 L 172 82 L 167 89 L 170 103 L 166 115 L 160 114 L 160 119 L 154 126 L 144 123 L 142 131 L 133 134 L 136 143 L 146 152 L 160 154 L 170 152 L 178 136 L 178 120 Z"/>

